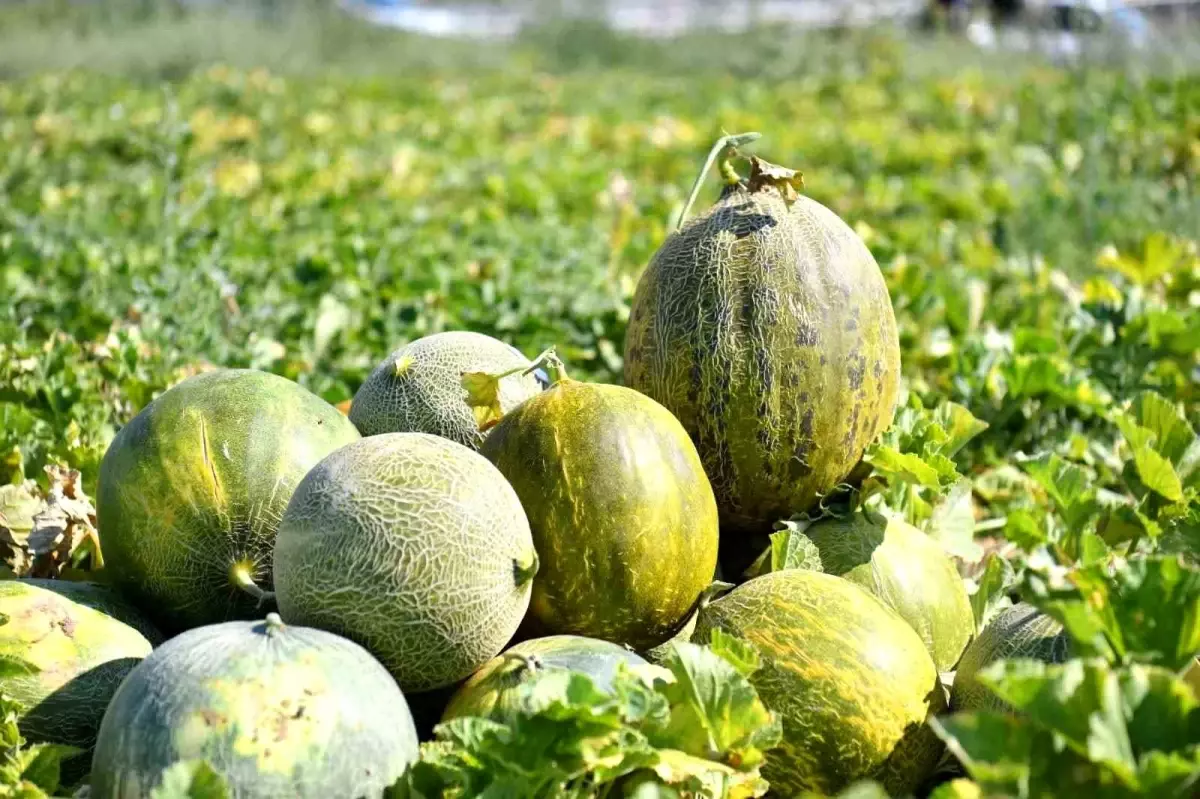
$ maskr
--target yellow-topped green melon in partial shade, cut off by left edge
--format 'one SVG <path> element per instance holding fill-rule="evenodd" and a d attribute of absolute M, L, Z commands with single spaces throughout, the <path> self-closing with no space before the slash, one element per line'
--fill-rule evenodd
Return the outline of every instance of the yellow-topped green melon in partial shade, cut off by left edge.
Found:
<path fill-rule="evenodd" d="M 162 642 L 115 591 L 65 579 L 0 581 L 0 655 L 38 668 L 0 680 L 30 740 L 90 750 L 113 692 Z"/>

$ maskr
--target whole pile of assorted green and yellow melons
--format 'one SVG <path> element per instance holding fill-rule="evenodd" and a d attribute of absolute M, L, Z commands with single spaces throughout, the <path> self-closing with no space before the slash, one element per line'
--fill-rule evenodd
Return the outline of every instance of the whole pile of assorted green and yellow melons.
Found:
<path fill-rule="evenodd" d="M 778 795 L 917 789 L 938 673 L 976 636 L 954 564 L 860 516 L 809 529 L 823 571 L 745 571 L 890 423 L 888 292 L 793 173 L 721 173 L 641 278 L 624 385 L 451 331 L 383 359 L 348 414 L 254 370 L 154 400 L 100 474 L 110 588 L 0 590 L 0 650 L 53 675 L 25 678 L 28 732 L 94 749 L 94 799 L 197 758 L 233 795 L 382 797 L 414 715 L 487 715 L 547 668 L 602 689 L 724 630 L 782 720 Z"/>

